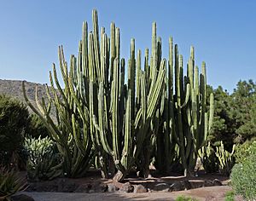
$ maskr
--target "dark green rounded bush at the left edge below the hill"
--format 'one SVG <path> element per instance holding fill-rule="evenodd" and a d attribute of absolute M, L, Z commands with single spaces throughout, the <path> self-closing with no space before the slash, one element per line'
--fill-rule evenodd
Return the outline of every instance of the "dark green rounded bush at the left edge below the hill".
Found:
<path fill-rule="evenodd" d="M 28 132 L 29 112 L 19 100 L 0 95 L 0 163 L 19 164 L 24 135 Z"/>

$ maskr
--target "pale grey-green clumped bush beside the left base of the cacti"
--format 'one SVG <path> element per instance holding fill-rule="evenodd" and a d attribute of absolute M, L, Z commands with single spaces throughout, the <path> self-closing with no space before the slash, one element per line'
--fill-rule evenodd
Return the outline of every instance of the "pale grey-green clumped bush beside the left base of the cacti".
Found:
<path fill-rule="evenodd" d="M 51 180 L 61 175 L 61 160 L 55 143 L 45 137 L 26 138 L 27 175 L 31 180 Z"/>

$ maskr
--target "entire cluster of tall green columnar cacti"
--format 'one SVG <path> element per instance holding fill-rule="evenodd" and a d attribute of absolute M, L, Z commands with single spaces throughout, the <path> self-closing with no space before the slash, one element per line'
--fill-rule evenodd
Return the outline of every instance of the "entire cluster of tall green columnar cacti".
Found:
<path fill-rule="evenodd" d="M 60 47 L 64 89 L 54 65 L 53 76 L 49 74 L 51 88 L 46 86 L 49 100 L 37 100 L 39 111 L 26 98 L 23 83 L 26 102 L 57 142 L 65 171 L 69 176 L 84 175 L 96 161 L 103 175 L 120 181 L 133 167 L 147 176 L 155 157 L 156 166 L 166 171 L 174 158 L 180 158 L 187 175 L 212 127 L 213 96 L 207 112 L 205 63 L 199 75 L 191 48 L 183 75 L 183 56 L 177 45 L 173 47 L 172 37 L 169 58 L 162 58 L 155 22 L 151 52 L 145 49 L 142 56 L 132 38 L 125 63 L 120 57 L 119 28 L 112 23 L 108 37 L 104 27 L 99 31 L 96 10 L 92 20 L 92 32 L 87 22 L 83 24 L 79 55 L 71 56 L 69 71 Z M 49 116 L 51 106 L 55 106 L 56 121 Z"/>

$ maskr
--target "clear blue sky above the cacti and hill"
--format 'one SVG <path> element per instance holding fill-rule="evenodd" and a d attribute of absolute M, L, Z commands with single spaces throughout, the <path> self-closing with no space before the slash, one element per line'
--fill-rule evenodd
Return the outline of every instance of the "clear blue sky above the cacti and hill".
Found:
<path fill-rule="evenodd" d="M 207 62 L 207 82 L 230 92 L 241 80 L 256 80 L 256 1 L 253 0 L 8 0 L 0 3 L 0 78 L 49 83 L 57 47 L 67 59 L 77 55 L 84 20 L 98 10 L 100 26 L 111 21 L 121 31 L 121 55 L 127 58 L 130 39 L 136 48 L 151 46 L 155 20 L 164 56 L 168 37 L 187 60 L 195 46 L 195 62 Z"/>

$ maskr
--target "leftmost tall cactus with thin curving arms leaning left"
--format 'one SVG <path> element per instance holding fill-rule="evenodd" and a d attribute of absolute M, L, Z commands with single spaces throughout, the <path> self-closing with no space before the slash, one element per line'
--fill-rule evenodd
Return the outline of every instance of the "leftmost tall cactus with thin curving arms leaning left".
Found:
<path fill-rule="evenodd" d="M 42 119 L 52 140 L 57 143 L 62 158 L 63 174 L 68 177 L 80 177 L 85 175 L 87 169 L 90 168 L 90 161 L 95 156 L 90 138 L 90 129 L 88 128 L 88 100 L 84 99 L 83 95 L 84 92 L 89 90 L 86 89 L 87 85 L 83 87 L 84 83 L 88 83 L 88 81 L 84 79 L 83 69 L 78 66 L 74 56 L 71 57 L 70 71 L 67 72 L 67 62 L 62 47 L 59 48 L 59 60 L 65 85 L 64 89 L 61 89 L 55 65 L 53 65 L 53 76 L 49 72 L 51 87 L 49 88 L 46 85 L 47 105 L 44 98 L 40 103 L 38 89 L 36 89 L 38 106 L 38 109 L 36 109 L 26 97 L 24 82 L 22 83 L 23 95 L 27 105 Z M 55 86 L 57 89 L 55 89 Z M 53 97 L 50 95 L 50 90 Z M 49 115 L 52 106 L 55 106 L 56 119 Z"/>

